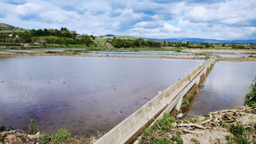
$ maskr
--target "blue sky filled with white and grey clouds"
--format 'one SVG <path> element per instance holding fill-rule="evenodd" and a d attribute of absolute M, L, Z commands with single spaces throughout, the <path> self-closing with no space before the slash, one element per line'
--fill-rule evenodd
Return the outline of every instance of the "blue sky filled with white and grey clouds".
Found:
<path fill-rule="evenodd" d="M 0 22 L 89 35 L 256 39 L 255 0 L 0 0 Z"/>

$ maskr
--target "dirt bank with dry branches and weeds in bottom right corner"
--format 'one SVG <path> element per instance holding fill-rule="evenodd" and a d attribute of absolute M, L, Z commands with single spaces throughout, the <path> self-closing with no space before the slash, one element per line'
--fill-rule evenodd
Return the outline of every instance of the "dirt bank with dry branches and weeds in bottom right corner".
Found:
<path fill-rule="evenodd" d="M 256 143 L 256 106 L 176 119 L 169 113 L 148 129 L 139 143 Z"/>

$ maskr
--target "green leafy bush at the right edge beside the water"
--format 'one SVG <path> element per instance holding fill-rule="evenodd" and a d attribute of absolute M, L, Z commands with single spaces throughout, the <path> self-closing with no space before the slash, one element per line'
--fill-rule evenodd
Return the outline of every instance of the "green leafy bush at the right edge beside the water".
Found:
<path fill-rule="evenodd" d="M 256 104 L 256 76 L 253 79 L 253 83 L 249 86 L 249 91 L 245 97 L 245 106 L 252 106 Z"/>

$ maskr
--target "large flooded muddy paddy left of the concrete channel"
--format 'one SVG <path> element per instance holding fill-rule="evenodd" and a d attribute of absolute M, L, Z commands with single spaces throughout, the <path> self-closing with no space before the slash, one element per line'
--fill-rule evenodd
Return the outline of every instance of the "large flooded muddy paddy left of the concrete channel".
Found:
<path fill-rule="evenodd" d="M 205 60 L 18 56 L 0 58 L 1 124 L 89 136 L 110 130 Z"/>

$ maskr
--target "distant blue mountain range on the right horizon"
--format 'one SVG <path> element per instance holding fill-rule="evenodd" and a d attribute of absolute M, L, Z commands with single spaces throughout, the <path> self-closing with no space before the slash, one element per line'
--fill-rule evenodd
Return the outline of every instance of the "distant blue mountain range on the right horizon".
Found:
<path fill-rule="evenodd" d="M 248 43 L 256 43 L 256 40 L 218 40 L 218 39 L 202 39 L 202 38 L 166 38 L 166 39 L 158 39 L 158 38 L 145 38 L 148 40 L 158 41 L 158 42 L 189 42 L 189 43 L 228 43 L 228 44 L 248 44 Z"/>

